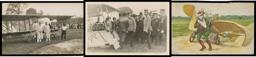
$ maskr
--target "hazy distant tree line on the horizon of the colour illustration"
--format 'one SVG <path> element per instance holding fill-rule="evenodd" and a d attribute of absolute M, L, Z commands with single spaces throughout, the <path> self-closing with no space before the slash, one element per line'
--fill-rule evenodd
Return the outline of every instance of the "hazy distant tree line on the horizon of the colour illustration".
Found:
<path fill-rule="evenodd" d="M 196 18 L 199 18 L 198 16 L 196 16 Z M 206 17 L 207 19 L 210 19 L 211 16 L 207 16 Z M 250 19 L 250 18 L 254 18 L 254 16 L 245 16 L 245 15 L 242 15 L 242 16 L 237 16 L 237 15 L 227 15 L 227 16 L 219 16 L 218 19 L 239 19 L 239 20 L 245 20 L 245 19 Z M 172 16 L 171 19 L 191 19 L 191 17 L 189 16 L 185 16 L 185 17 L 182 17 L 182 16 Z"/>

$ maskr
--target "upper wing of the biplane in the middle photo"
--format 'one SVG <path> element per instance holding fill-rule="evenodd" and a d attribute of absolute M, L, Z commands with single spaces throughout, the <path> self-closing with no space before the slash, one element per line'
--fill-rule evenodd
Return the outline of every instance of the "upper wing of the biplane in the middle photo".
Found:
<path fill-rule="evenodd" d="M 112 12 L 112 11 L 120 12 L 118 9 L 115 9 L 106 4 L 88 4 L 88 8 L 87 8 L 88 17 L 102 16 L 100 5 L 103 12 L 107 12 L 107 8 L 109 12 Z"/>

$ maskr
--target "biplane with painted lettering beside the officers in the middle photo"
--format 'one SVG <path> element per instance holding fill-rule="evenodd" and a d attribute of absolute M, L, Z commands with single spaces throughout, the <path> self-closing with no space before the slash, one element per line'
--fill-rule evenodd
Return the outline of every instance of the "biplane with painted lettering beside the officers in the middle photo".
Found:
<path fill-rule="evenodd" d="M 129 7 L 128 7 L 129 8 Z M 92 20 L 92 17 L 101 17 L 100 19 L 105 20 L 103 13 L 117 12 L 122 13 L 125 12 L 132 12 L 132 10 L 126 10 L 127 7 L 115 9 L 106 4 L 88 4 L 88 47 L 99 47 L 99 46 L 108 46 L 114 45 L 115 49 L 119 47 L 118 40 L 119 37 L 114 29 L 112 29 L 112 25 L 110 21 L 104 23 L 95 23 L 96 21 Z M 119 10 L 120 9 L 120 10 Z M 118 19 L 118 17 L 117 17 Z M 115 46 L 116 45 L 116 46 Z"/>

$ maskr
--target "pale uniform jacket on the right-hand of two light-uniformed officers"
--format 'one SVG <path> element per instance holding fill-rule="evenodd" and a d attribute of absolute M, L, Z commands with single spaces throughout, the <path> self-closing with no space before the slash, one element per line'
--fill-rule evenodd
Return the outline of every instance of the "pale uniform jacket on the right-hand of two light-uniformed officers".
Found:
<path fill-rule="evenodd" d="M 144 29 L 143 31 L 146 31 L 146 29 L 149 31 L 152 30 L 152 27 L 151 27 L 151 16 L 147 15 L 146 18 L 144 19 Z"/>

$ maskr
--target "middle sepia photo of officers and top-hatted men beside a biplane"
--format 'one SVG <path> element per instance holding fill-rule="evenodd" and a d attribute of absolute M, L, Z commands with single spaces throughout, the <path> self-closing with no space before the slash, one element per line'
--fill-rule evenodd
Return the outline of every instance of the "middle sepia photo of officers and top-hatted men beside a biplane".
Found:
<path fill-rule="evenodd" d="M 170 55 L 169 2 L 85 2 L 85 55 Z"/>

